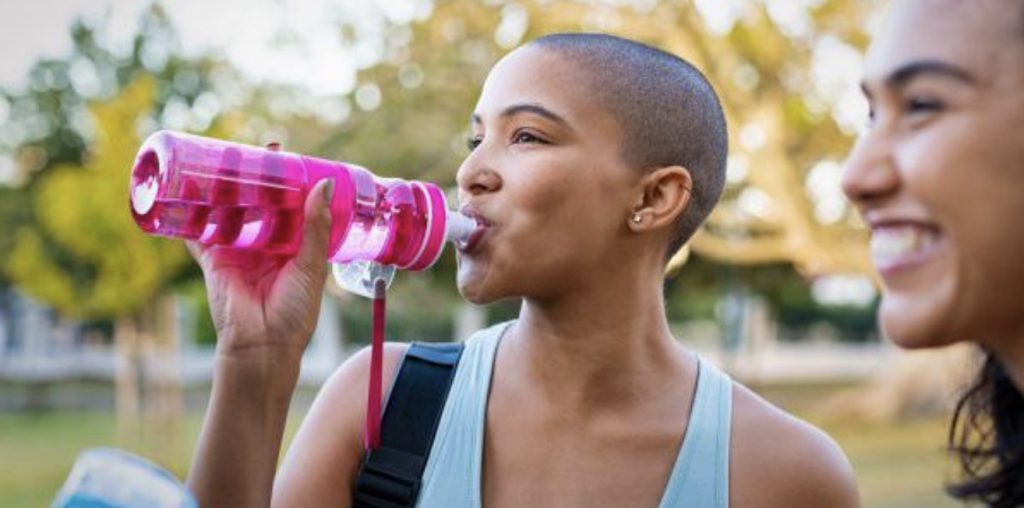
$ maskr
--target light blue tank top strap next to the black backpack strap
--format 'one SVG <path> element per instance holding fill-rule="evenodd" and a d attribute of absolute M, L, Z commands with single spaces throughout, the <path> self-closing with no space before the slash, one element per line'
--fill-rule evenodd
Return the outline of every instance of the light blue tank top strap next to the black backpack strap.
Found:
<path fill-rule="evenodd" d="M 483 428 L 495 353 L 512 322 L 495 325 L 466 340 L 447 401 L 437 423 L 417 506 L 479 507 Z"/>

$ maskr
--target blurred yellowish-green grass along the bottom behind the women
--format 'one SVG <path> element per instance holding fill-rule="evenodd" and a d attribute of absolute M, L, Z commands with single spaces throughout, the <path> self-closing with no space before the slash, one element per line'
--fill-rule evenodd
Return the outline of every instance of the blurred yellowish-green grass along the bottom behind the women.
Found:
<path fill-rule="evenodd" d="M 288 435 L 300 419 L 293 415 Z M 958 506 L 941 491 L 947 471 L 942 452 L 945 419 L 898 424 L 808 419 L 831 434 L 850 457 L 865 507 Z M 199 417 L 191 416 L 176 432 L 151 430 L 119 438 L 113 415 L 105 413 L 0 415 L 0 506 L 48 505 L 78 453 L 96 446 L 139 453 L 181 477 L 199 426 Z"/>

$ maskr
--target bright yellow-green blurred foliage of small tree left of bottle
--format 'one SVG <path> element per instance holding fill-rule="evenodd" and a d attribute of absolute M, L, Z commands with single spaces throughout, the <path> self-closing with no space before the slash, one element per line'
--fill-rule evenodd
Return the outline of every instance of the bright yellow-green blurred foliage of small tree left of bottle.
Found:
<path fill-rule="evenodd" d="M 140 140 L 135 125 L 153 102 L 154 82 L 139 79 L 109 102 L 92 108 L 96 142 L 82 166 L 61 164 L 34 186 L 40 230 L 15 234 L 9 272 L 28 293 L 71 315 L 112 318 L 136 311 L 180 269 L 187 255 L 180 243 L 147 237 L 127 210 L 128 180 Z M 45 239 L 94 268 L 94 277 L 72 285 Z"/>

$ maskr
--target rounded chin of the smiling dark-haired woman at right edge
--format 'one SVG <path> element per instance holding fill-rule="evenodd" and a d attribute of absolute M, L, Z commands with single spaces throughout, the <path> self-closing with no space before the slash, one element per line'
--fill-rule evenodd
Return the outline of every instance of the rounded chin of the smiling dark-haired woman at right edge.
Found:
<path fill-rule="evenodd" d="M 951 330 L 952 311 L 930 297 L 888 294 L 879 307 L 886 336 L 904 349 L 924 349 L 959 342 Z"/>

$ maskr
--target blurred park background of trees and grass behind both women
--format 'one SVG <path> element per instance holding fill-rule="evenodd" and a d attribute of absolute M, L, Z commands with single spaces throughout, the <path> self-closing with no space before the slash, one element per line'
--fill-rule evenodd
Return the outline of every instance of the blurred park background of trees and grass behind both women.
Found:
<path fill-rule="evenodd" d="M 174 129 L 454 187 L 489 67 L 537 36 L 606 32 L 702 69 L 729 118 L 728 187 L 674 259 L 676 336 L 844 448 L 865 506 L 952 506 L 950 405 L 976 359 L 879 331 L 865 234 L 840 190 L 866 122 L 869 0 L 52 0 L 0 18 L 0 506 L 44 506 L 111 444 L 183 476 L 215 342 L 202 277 L 128 208 L 141 139 Z M 399 273 L 394 340 L 464 338 L 454 258 Z M 600 277 L 595 273 L 595 277 Z M 370 335 L 332 288 L 289 435 Z"/>

